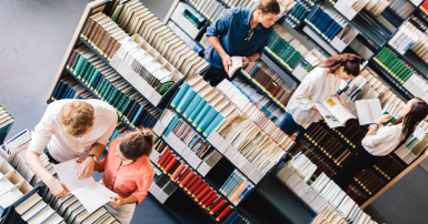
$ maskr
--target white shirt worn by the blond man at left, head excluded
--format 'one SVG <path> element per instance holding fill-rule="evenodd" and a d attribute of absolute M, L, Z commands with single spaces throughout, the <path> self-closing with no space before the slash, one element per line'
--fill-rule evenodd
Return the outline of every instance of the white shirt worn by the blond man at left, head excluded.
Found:
<path fill-rule="evenodd" d="M 41 154 L 46 146 L 58 162 L 76 157 L 86 159 L 94 143 L 107 144 L 118 123 L 118 115 L 110 104 L 100 100 L 84 100 L 92 105 L 96 120 L 92 130 L 82 138 L 73 138 L 63 131 L 63 108 L 78 100 L 59 100 L 48 105 L 40 123 L 31 133 L 29 150 Z"/>

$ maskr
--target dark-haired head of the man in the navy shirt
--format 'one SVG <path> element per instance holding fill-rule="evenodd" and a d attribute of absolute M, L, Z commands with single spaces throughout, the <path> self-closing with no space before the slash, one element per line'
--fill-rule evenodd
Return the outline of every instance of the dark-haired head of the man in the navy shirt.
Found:
<path fill-rule="evenodd" d="M 261 0 L 255 12 L 259 22 L 265 28 L 270 28 L 279 16 L 279 3 L 277 0 Z"/>

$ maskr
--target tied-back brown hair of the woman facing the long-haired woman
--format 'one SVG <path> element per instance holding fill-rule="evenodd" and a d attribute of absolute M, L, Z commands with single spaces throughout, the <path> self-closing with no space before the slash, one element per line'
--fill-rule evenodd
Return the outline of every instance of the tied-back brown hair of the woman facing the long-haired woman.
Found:
<path fill-rule="evenodd" d="M 322 61 L 319 67 L 320 68 L 328 68 L 330 73 L 336 73 L 336 71 L 344 67 L 344 71 L 348 74 L 351 74 L 352 77 L 358 77 L 360 73 L 360 60 L 361 58 L 359 55 L 356 55 L 354 53 L 342 53 L 342 54 L 336 54 L 327 60 Z"/>

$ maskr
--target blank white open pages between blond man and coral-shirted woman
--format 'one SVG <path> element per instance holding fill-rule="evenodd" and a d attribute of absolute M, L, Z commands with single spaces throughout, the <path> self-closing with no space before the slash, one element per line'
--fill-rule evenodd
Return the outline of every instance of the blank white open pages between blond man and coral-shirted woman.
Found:
<path fill-rule="evenodd" d="M 78 180 L 79 167 L 80 163 L 77 163 L 76 159 L 54 165 L 61 182 L 66 184 L 70 193 L 82 203 L 89 213 L 110 202 L 110 197 L 118 195 L 101 183 L 96 182 L 92 176 Z"/>

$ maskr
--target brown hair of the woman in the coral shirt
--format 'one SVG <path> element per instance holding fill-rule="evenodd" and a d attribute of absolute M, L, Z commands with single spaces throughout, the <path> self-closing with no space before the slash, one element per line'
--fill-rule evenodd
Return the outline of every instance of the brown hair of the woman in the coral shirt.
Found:
<path fill-rule="evenodd" d="M 126 159 L 132 161 L 142 155 L 149 156 L 153 149 L 153 138 L 155 134 L 150 129 L 129 132 L 119 143 L 120 152 Z"/>

